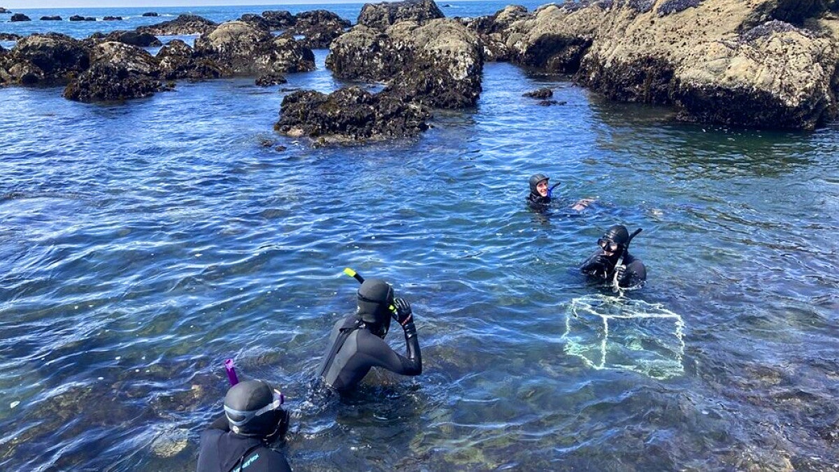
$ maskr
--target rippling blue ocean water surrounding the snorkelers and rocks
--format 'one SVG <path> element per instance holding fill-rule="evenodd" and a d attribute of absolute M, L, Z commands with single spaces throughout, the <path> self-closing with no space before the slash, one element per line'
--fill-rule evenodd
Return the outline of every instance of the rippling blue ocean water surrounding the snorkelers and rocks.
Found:
<path fill-rule="evenodd" d="M 311 8 L 360 5 L 289 6 Z M 145 10 L 0 30 L 169 19 Z M 326 52 L 284 87 L 345 85 Z M 537 87 L 565 105 L 522 97 Z M 676 123 L 487 64 L 477 108 L 416 139 L 315 149 L 274 133 L 287 92 L 253 80 L 60 92 L 0 89 L 0 469 L 195 469 L 227 358 L 284 391 L 295 470 L 839 468 L 835 123 Z M 562 182 L 547 215 L 524 206 L 537 171 Z M 614 223 L 644 228 L 649 283 L 623 297 L 576 273 Z M 313 396 L 347 266 L 412 302 L 424 373 Z"/>

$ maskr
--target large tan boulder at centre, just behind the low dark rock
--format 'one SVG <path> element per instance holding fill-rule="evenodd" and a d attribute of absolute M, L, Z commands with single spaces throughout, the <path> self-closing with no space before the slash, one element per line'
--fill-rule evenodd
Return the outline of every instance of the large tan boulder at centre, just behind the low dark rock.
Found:
<path fill-rule="evenodd" d="M 332 44 L 326 66 L 347 79 L 388 81 L 388 92 L 431 108 L 465 108 L 481 93 L 482 48 L 456 20 L 358 25 Z"/>

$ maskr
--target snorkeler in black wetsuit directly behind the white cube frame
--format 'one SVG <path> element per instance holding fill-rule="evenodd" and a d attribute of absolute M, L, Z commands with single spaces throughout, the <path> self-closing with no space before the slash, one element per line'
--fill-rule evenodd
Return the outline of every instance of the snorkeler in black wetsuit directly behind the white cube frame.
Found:
<path fill-rule="evenodd" d="M 609 228 L 601 239 L 597 239 L 600 249 L 591 254 L 580 267 L 580 271 L 592 279 L 614 280 L 618 275 L 618 287 L 639 287 L 647 281 L 647 269 L 640 259 L 633 257 L 628 251 L 629 232 L 621 224 Z M 621 256 L 623 260 L 621 261 Z M 618 265 L 621 261 L 621 265 Z M 616 267 L 617 265 L 617 267 Z"/>

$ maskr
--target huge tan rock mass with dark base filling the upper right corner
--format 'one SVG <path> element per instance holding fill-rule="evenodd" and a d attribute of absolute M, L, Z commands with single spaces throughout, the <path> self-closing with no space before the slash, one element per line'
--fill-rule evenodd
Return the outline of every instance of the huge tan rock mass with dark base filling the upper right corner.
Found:
<path fill-rule="evenodd" d="M 539 8 L 500 34 L 512 60 L 576 73 L 576 81 L 615 100 L 674 104 L 690 121 L 810 129 L 836 116 L 839 34 L 804 29 L 835 23 L 817 19 L 829 7 L 816 0 L 569 2 Z"/>

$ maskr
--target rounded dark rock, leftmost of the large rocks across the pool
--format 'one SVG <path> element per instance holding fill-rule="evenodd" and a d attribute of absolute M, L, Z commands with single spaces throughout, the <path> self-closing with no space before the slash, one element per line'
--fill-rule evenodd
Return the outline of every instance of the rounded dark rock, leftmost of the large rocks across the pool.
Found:
<path fill-rule="evenodd" d="M 90 66 L 88 48 L 66 34 L 32 34 L 19 39 L 12 56 L 13 61 L 29 63 L 37 68 L 38 71 L 30 71 L 30 81 L 38 76 L 38 82 L 63 83 Z"/>

